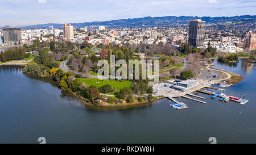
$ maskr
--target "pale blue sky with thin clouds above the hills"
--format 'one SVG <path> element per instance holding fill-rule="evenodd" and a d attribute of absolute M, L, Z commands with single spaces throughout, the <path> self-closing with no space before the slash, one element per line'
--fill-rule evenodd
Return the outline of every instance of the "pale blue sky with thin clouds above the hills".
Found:
<path fill-rule="evenodd" d="M 255 0 L 1 0 L 0 26 L 167 15 L 255 15 L 255 10 Z"/>

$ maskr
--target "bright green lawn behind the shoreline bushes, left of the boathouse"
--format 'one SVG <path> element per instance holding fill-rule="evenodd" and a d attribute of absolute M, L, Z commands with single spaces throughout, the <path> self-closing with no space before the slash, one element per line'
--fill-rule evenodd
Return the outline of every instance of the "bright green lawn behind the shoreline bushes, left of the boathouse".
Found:
<path fill-rule="evenodd" d="M 101 87 L 104 86 L 106 84 L 109 84 L 110 86 L 112 86 L 114 88 L 114 92 L 112 93 L 108 93 L 109 95 L 114 95 L 115 92 L 120 91 L 120 89 L 122 89 L 123 87 L 130 87 L 131 81 L 117 81 L 117 80 L 109 80 L 109 79 L 98 79 L 98 78 L 78 78 L 80 79 L 80 81 L 85 82 L 86 85 L 91 86 L 94 85 L 96 87 Z M 100 82 L 100 83 L 96 83 L 96 82 Z"/>

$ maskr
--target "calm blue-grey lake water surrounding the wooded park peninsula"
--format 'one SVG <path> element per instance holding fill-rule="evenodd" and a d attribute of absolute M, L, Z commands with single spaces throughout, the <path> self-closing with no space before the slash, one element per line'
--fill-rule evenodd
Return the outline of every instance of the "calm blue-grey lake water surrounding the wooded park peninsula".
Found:
<path fill-rule="evenodd" d="M 125 110 L 91 110 L 49 82 L 30 78 L 19 66 L 0 66 L 0 143 L 256 143 L 256 69 L 216 64 L 244 79 L 225 94 L 238 94 L 245 105 L 205 97 L 207 104 L 185 98 L 189 108 L 175 110 L 168 99 Z"/>

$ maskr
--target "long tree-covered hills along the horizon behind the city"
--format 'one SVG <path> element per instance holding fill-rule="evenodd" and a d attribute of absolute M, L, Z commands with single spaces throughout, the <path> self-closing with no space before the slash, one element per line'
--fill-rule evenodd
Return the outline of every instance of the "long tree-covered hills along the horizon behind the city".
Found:
<path fill-rule="evenodd" d="M 224 23 L 255 23 L 256 15 L 242 15 L 242 16 L 221 16 L 221 17 L 210 17 L 210 16 L 162 16 L 162 17 L 151 17 L 146 16 L 144 18 L 133 18 L 133 19 L 118 19 L 110 20 L 105 22 L 84 22 L 84 23 L 71 23 L 74 27 L 91 27 L 102 25 L 109 28 L 122 28 L 122 27 L 187 27 L 189 21 L 201 19 L 207 22 L 207 24 L 224 24 Z M 53 26 L 55 28 L 62 28 L 63 24 L 48 23 L 38 24 L 32 26 L 22 26 L 21 28 L 48 28 Z"/>

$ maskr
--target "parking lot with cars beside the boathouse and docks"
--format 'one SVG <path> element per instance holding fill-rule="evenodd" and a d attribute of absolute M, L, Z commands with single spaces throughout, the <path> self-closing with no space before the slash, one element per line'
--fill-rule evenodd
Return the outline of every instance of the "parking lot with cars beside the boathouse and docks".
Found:
<path fill-rule="evenodd" d="M 202 69 L 199 79 L 203 80 L 218 80 L 222 78 L 221 72 L 213 69 Z"/>

